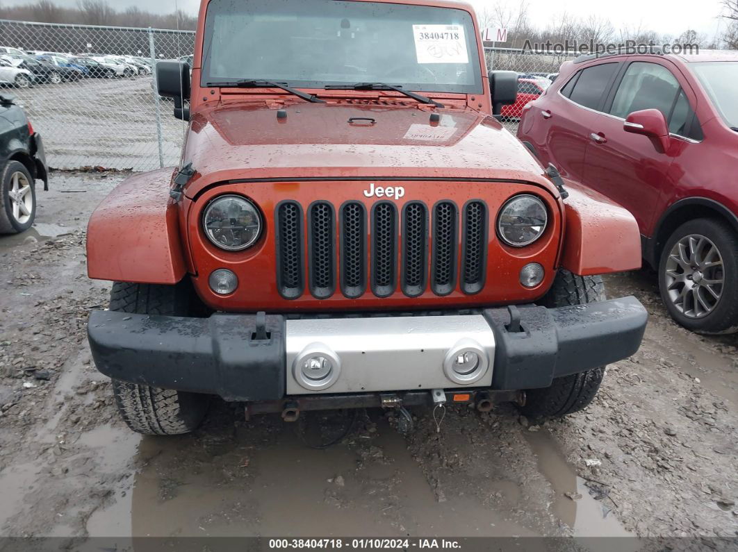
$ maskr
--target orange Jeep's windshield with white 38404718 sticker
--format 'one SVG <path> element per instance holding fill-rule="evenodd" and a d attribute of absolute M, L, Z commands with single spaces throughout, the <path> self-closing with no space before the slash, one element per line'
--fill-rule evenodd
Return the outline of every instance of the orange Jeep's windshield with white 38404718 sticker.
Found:
<path fill-rule="evenodd" d="M 480 94 L 480 74 L 464 10 L 335 0 L 212 0 L 207 7 L 202 85 L 372 82 Z"/>

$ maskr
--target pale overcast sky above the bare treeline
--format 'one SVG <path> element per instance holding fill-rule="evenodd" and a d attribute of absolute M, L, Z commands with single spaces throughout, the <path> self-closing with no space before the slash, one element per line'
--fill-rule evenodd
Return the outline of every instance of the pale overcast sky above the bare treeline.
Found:
<path fill-rule="evenodd" d="M 15 5 L 27 4 L 30 0 L 0 0 L 0 4 Z M 76 0 L 56 0 L 58 4 L 75 6 Z M 245 0 L 247 1 L 247 0 Z M 295 0 L 300 1 L 300 0 Z M 489 7 L 494 0 L 471 0 L 477 10 Z M 517 1 L 508 0 L 511 6 Z M 128 6 L 138 6 L 143 10 L 169 13 L 174 10 L 175 0 L 114 0 L 111 5 L 120 9 Z M 177 0 L 179 9 L 190 13 L 197 13 L 199 0 Z M 615 28 L 628 26 L 638 27 L 642 24 L 645 29 L 653 29 L 662 34 L 679 35 L 686 29 L 692 28 L 712 38 L 718 30 L 720 14 L 720 0 L 671 0 L 668 3 L 661 1 L 619 0 L 615 2 L 592 0 L 528 0 L 531 21 L 540 27 L 545 27 L 547 21 L 556 18 L 564 11 L 581 17 L 600 15 L 607 18 Z"/>

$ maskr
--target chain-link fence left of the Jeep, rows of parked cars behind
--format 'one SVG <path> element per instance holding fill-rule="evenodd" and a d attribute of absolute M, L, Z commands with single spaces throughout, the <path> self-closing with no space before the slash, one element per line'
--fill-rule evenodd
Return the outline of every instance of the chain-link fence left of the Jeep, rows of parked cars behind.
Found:
<path fill-rule="evenodd" d="M 0 94 L 25 109 L 51 167 L 175 165 L 184 123 L 156 94 L 154 66 L 194 43 L 189 31 L 0 20 Z"/>

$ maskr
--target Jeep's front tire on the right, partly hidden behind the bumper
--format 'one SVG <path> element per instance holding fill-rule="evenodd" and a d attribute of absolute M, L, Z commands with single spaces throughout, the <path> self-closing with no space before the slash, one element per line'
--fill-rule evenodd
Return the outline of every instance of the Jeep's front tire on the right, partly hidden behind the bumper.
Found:
<path fill-rule="evenodd" d="M 600 276 L 576 276 L 559 270 L 551 290 L 539 301 L 543 307 L 569 307 L 604 301 Z M 582 410 L 592 402 L 604 377 L 604 366 L 579 374 L 557 377 L 551 387 L 525 391 L 525 406 L 520 411 L 528 418 L 556 418 Z"/>

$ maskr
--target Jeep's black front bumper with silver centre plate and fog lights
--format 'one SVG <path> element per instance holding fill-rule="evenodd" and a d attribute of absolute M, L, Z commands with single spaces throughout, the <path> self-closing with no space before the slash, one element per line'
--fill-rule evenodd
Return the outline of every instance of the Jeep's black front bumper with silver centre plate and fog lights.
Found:
<path fill-rule="evenodd" d="M 444 319 L 450 321 L 463 316 L 421 318 L 425 323 L 432 319 L 435 326 L 444 327 Z M 471 386 L 508 391 L 545 388 L 555 377 L 629 357 L 641 345 L 647 320 L 646 310 L 633 297 L 556 309 L 532 305 L 485 309 L 469 316 L 477 317 L 477 322 L 482 319 L 489 331 L 489 335 L 483 338 L 483 348 L 491 356 L 488 377 L 467 386 L 450 380 L 449 385 L 438 385 L 437 380 L 432 380 L 429 385 L 421 383 L 421 389 L 444 387 L 463 391 Z M 387 315 L 387 318 L 417 320 L 413 316 Z M 359 318 L 369 319 L 376 317 Z M 314 322 L 315 327 L 320 327 L 320 318 Z M 288 343 L 294 343 L 294 336 L 291 337 L 288 324 L 282 315 L 263 313 L 175 318 L 96 310 L 89 318 L 88 335 L 97 369 L 117 380 L 215 394 L 226 400 L 244 402 L 277 401 L 287 396 L 333 392 L 330 388 L 288 392 L 288 388 L 294 391 L 294 382 L 290 381 L 294 372 L 288 362 L 292 354 L 288 351 Z M 456 323 L 455 326 L 456 329 L 460 327 Z M 324 337 L 325 343 L 341 343 L 340 340 L 331 341 L 329 335 Z M 382 364 L 381 385 L 384 389 L 381 391 L 410 391 L 407 378 L 392 376 L 393 370 L 401 372 L 407 367 L 404 361 L 391 366 L 391 360 L 388 360 L 392 358 L 388 354 L 396 350 L 397 342 L 390 341 L 383 349 L 381 340 L 373 337 L 376 336 L 365 335 L 366 340 L 356 346 L 354 352 L 367 357 L 380 354 L 376 357 L 378 363 L 375 366 Z M 431 342 L 436 341 L 438 332 Z M 489 343 L 494 346 L 489 346 Z M 405 349 L 404 354 L 408 354 L 407 347 Z M 416 364 L 435 378 L 442 373 L 443 367 L 435 366 L 434 357 L 428 358 L 429 362 Z M 389 370 L 385 366 L 388 362 Z M 345 373 L 349 373 L 346 372 L 351 369 L 349 365 L 361 366 L 364 374 L 372 369 L 371 364 L 362 365 L 352 360 L 344 364 Z M 357 373 L 361 374 L 353 371 L 354 380 Z M 398 387 L 395 380 L 401 381 L 401 386 Z M 356 394 L 379 391 L 359 385 L 360 382 L 355 382 L 354 388 L 339 388 L 337 392 L 346 393 L 347 389 Z M 418 391 L 418 386 L 414 389 Z"/>

